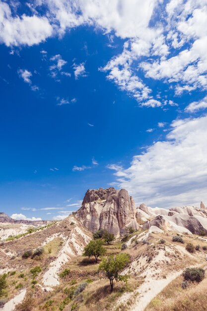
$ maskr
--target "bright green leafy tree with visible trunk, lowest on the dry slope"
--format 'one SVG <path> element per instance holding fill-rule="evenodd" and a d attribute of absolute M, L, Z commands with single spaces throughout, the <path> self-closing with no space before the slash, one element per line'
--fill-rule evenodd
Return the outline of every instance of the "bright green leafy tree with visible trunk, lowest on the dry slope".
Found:
<path fill-rule="evenodd" d="M 120 274 L 120 272 L 126 267 L 129 262 L 129 254 L 126 253 L 118 254 L 116 256 L 110 255 L 102 259 L 99 265 L 99 271 L 103 271 L 105 273 L 105 277 L 109 279 L 111 292 L 114 288 L 114 280 L 117 282 L 127 282 L 127 280 L 130 278 L 130 275 L 128 274 Z"/>

